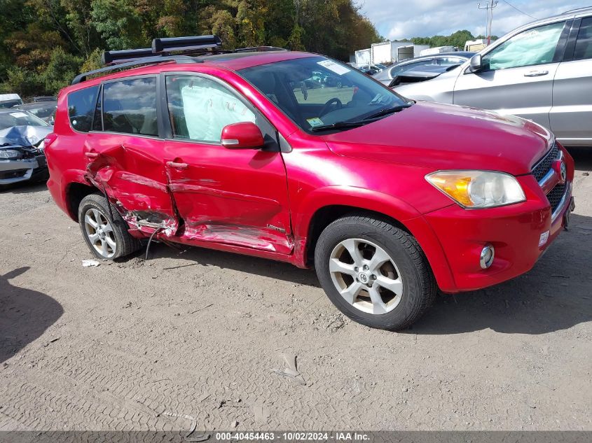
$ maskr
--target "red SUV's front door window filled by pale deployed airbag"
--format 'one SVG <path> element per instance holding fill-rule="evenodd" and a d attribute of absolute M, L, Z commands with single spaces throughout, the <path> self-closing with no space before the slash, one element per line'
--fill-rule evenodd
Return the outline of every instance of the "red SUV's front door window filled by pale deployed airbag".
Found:
<path fill-rule="evenodd" d="M 173 137 L 219 142 L 226 125 L 256 123 L 256 115 L 228 88 L 198 76 L 167 76 Z"/>

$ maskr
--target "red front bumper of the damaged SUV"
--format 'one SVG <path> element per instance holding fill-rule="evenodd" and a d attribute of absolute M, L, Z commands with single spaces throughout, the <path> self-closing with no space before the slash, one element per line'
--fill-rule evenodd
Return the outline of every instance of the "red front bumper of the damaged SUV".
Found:
<path fill-rule="evenodd" d="M 571 171 L 565 193 L 556 209 L 532 176 L 518 177 L 527 195 L 520 204 L 493 209 L 465 210 L 454 204 L 425 214 L 439 238 L 454 286 L 441 286 L 447 293 L 493 286 L 528 272 L 569 222 L 574 209 Z M 495 259 L 481 269 L 480 258 L 487 244 Z"/>

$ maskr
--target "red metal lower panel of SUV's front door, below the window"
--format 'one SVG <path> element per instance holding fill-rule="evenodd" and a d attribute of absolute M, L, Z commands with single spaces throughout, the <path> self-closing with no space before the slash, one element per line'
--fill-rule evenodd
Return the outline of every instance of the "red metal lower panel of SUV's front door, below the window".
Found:
<path fill-rule="evenodd" d="M 184 220 L 184 241 L 291 253 L 281 153 L 230 150 L 214 143 L 165 143 L 170 189 Z"/>

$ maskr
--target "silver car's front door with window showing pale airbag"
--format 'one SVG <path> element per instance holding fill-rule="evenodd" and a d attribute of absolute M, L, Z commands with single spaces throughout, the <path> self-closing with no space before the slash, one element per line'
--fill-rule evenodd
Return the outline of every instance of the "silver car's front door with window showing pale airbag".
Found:
<path fill-rule="evenodd" d="M 565 21 L 522 31 L 483 55 L 483 70 L 457 78 L 454 104 L 493 109 L 550 127 L 553 78 L 570 26 Z"/>

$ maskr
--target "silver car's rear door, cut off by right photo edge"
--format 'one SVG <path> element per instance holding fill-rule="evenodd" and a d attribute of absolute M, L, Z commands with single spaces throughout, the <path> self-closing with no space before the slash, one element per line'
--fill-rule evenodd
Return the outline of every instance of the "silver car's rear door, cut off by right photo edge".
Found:
<path fill-rule="evenodd" d="M 574 20 L 553 85 L 551 130 L 567 146 L 592 146 L 592 17 Z"/>

